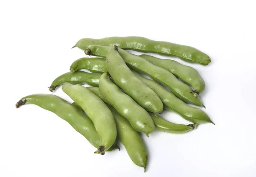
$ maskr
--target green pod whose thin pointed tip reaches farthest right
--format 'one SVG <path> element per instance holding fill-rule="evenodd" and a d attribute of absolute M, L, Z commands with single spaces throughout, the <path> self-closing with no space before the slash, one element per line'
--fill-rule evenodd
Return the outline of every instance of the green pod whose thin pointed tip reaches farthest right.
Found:
<path fill-rule="evenodd" d="M 175 112 L 179 113 L 181 117 L 193 123 L 203 124 L 209 122 L 214 124 L 203 110 L 187 105 L 179 98 L 177 98 L 173 93 L 169 92 L 166 88 L 158 84 L 156 81 L 147 79 L 135 71 L 132 72 L 135 76 L 137 76 L 137 78 L 139 78 L 141 81 L 143 81 L 143 83 L 145 83 L 149 88 L 157 93 L 163 102 L 163 107 L 166 110 L 174 110 Z"/>

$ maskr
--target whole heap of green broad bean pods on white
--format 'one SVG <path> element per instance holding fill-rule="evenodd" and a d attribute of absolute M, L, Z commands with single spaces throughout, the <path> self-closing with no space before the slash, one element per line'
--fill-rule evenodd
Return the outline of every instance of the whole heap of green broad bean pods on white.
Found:
<path fill-rule="evenodd" d="M 95 154 L 120 150 L 118 138 L 131 160 L 145 172 L 148 153 L 138 132 L 147 136 L 154 130 L 185 133 L 198 124 L 214 124 L 203 110 L 187 104 L 204 107 L 198 95 L 204 91 L 205 83 L 197 70 L 171 59 L 137 56 L 125 49 L 177 56 L 201 65 L 211 62 L 207 54 L 189 46 L 143 37 L 84 38 L 74 47 L 98 57 L 73 62 L 70 72 L 58 76 L 49 90 L 62 85 L 64 93 L 75 102 L 71 104 L 52 94 L 35 94 L 21 98 L 16 107 L 35 104 L 55 113 L 96 148 Z M 193 124 L 166 121 L 159 116 L 163 109 L 175 111 Z"/>

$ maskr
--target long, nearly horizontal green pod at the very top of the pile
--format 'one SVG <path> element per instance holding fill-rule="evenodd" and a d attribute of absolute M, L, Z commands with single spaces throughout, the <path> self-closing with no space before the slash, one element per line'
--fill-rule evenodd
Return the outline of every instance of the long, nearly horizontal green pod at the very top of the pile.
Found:
<path fill-rule="evenodd" d="M 210 57 L 196 48 L 171 42 L 154 41 L 145 37 L 106 37 L 102 39 L 83 38 L 74 47 L 86 50 L 90 45 L 114 46 L 139 52 L 158 53 L 160 55 L 177 56 L 185 61 L 208 65 Z M 73 48 L 74 48 L 73 47 Z"/>

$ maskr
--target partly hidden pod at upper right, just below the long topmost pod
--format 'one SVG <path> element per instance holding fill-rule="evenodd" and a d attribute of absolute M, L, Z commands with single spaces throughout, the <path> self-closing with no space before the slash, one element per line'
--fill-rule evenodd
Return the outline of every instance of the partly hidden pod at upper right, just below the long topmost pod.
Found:
<path fill-rule="evenodd" d="M 156 66 L 163 67 L 175 76 L 179 77 L 184 83 L 191 85 L 194 88 L 194 97 L 197 97 L 205 89 L 203 78 L 193 67 L 182 65 L 171 59 L 159 59 L 150 55 L 140 56 Z"/>

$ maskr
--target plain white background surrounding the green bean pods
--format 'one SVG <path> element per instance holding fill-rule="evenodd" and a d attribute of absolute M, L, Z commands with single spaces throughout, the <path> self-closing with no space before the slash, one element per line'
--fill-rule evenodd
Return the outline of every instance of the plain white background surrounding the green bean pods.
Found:
<path fill-rule="evenodd" d="M 0 177 L 255 177 L 256 28 L 253 1 L 29 1 L 0 3 Z M 207 53 L 195 67 L 215 122 L 184 135 L 142 136 L 148 170 L 121 151 L 95 148 L 67 122 L 23 96 L 49 93 L 52 80 L 84 57 L 83 37 L 143 36 Z M 163 57 L 163 56 L 161 56 Z M 168 57 L 163 57 L 168 58 Z M 72 101 L 61 89 L 54 93 Z M 164 118 L 184 123 L 175 113 Z"/>

